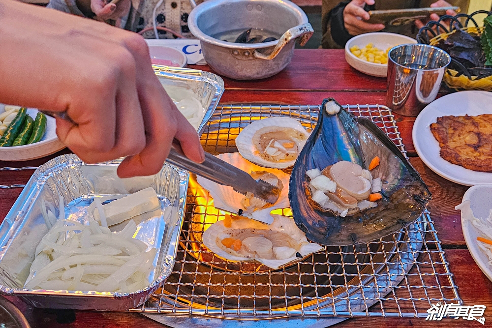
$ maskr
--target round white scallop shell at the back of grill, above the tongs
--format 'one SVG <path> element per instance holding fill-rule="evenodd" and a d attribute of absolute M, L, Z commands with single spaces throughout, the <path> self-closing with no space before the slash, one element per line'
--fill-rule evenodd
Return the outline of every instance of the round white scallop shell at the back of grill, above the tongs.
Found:
<path fill-rule="evenodd" d="M 236 147 L 238 148 L 239 153 L 247 160 L 263 167 L 285 169 L 293 166 L 296 162 L 297 156 L 293 160 L 273 162 L 266 160 L 257 154 L 259 150 L 254 145 L 253 139 L 256 132 L 262 128 L 271 128 L 271 130 L 269 130 L 268 132 L 282 130 L 285 128 L 299 131 L 300 133 L 304 134 L 306 138 L 296 142 L 298 149 L 302 149 L 304 147 L 304 144 L 309 137 L 309 133 L 306 131 L 306 129 L 301 125 L 299 121 L 295 119 L 286 117 L 260 119 L 246 126 L 236 137 Z"/>

